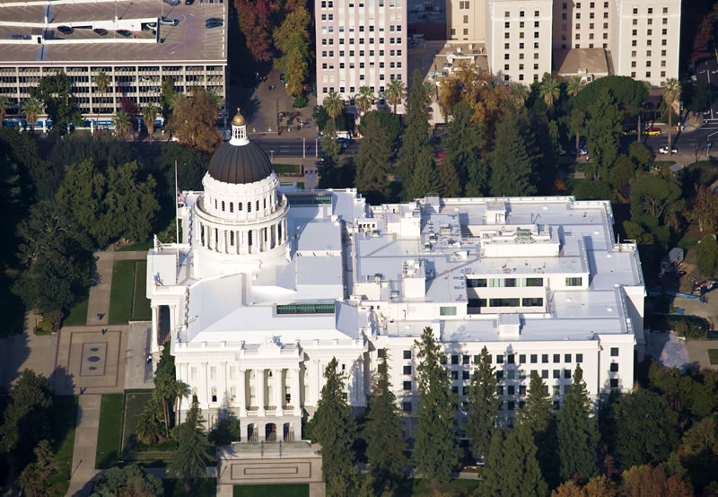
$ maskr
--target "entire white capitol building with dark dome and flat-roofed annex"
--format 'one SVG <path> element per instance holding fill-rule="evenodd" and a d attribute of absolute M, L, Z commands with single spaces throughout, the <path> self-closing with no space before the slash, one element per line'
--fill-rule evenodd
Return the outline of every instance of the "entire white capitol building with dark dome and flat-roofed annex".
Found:
<path fill-rule="evenodd" d="M 487 347 L 503 423 L 531 371 L 556 405 L 577 363 L 594 397 L 632 387 L 644 279 L 635 244 L 616 240 L 608 201 L 434 196 L 371 206 L 353 189 L 281 186 L 246 133 L 238 114 L 205 191 L 185 192 L 181 243 L 148 255 L 152 352 L 170 340 L 178 379 L 210 424 L 233 414 L 243 441 L 300 440 L 328 362 L 337 358 L 361 409 L 386 348 L 412 429 L 425 327 L 462 401 Z"/>

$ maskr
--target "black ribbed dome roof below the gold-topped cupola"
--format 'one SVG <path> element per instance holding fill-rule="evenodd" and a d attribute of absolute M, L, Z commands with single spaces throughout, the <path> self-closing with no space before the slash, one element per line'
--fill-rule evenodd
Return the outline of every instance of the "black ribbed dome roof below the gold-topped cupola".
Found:
<path fill-rule="evenodd" d="M 223 183 L 254 183 L 271 174 L 272 164 L 267 154 L 251 142 L 246 145 L 225 142 L 209 161 L 209 175 Z"/>

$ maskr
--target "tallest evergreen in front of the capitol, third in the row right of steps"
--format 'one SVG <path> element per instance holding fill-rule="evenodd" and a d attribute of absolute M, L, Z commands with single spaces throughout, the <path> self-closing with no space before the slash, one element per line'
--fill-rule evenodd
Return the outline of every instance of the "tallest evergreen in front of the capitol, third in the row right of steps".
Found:
<path fill-rule="evenodd" d="M 451 472 L 459 465 L 455 418 L 458 398 L 451 393 L 449 371 L 441 363 L 442 347 L 436 343 L 431 327 L 424 328 L 416 346 L 419 359 L 416 366 L 419 393 L 414 446 L 416 471 L 429 480 L 448 482 Z"/>

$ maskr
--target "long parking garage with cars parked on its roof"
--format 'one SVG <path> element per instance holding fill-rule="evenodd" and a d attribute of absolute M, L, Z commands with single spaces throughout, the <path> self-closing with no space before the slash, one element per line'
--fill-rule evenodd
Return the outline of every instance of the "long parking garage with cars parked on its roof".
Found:
<path fill-rule="evenodd" d="M 171 6 L 153 0 L 51 3 L 0 2 L 0 94 L 10 100 L 8 123 L 30 89 L 48 74 L 66 73 L 88 120 L 111 123 L 123 99 L 159 103 L 162 80 L 175 91 L 199 86 L 226 98 L 227 4 Z M 162 18 L 170 21 L 162 22 Z M 216 18 L 213 26 L 207 19 Z M 109 85 L 97 85 L 97 75 Z M 38 126 L 45 119 L 40 118 Z"/>

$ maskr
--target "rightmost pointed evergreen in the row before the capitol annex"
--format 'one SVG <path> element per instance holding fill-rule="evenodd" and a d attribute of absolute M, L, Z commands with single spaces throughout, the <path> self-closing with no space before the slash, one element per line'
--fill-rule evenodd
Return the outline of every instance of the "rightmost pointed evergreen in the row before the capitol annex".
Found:
<path fill-rule="evenodd" d="M 576 364 L 571 389 L 558 414 L 557 432 L 561 478 L 578 476 L 588 480 L 596 475 L 599 432 L 591 417 L 591 399 L 580 364 Z"/>

